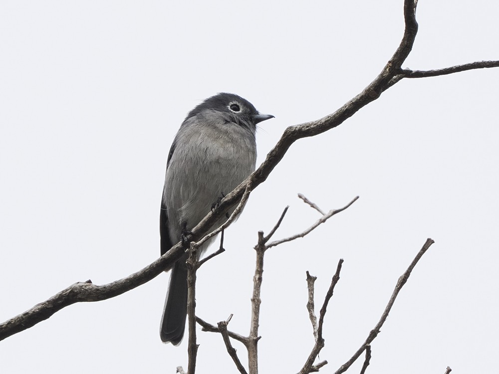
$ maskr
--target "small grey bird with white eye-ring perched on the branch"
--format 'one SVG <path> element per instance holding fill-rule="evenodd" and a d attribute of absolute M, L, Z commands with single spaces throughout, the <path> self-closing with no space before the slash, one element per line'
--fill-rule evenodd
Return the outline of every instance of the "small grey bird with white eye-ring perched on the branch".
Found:
<path fill-rule="evenodd" d="M 209 97 L 188 113 L 168 154 L 160 210 L 161 255 L 185 241 L 224 193 L 255 170 L 256 125 L 270 118 L 274 116 L 260 114 L 248 100 L 231 93 Z M 198 259 L 209 244 L 199 248 Z M 186 260 L 184 254 L 172 267 L 161 319 L 161 340 L 174 346 L 182 342 L 186 325 Z"/>

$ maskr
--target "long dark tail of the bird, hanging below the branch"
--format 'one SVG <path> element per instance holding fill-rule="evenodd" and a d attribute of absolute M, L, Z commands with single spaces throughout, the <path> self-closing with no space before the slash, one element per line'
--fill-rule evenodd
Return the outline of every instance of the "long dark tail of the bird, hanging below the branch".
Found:
<path fill-rule="evenodd" d="M 187 317 L 187 267 L 185 260 L 178 261 L 172 269 L 170 287 L 166 295 L 161 319 L 161 340 L 178 346 L 184 338 Z"/>

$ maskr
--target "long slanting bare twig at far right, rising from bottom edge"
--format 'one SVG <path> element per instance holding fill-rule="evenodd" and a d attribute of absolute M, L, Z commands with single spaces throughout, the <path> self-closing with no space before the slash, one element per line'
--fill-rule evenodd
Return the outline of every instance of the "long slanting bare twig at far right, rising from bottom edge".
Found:
<path fill-rule="evenodd" d="M 419 259 L 425 254 L 425 252 L 430 248 L 430 246 L 435 243 L 432 239 L 428 238 L 426 239 L 426 243 L 423 245 L 423 248 L 418 252 L 414 260 L 411 262 L 411 265 L 407 268 L 407 270 L 402 274 L 402 276 L 399 278 L 397 281 L 397 284 L 395 286 L 395 289 L 393 290 L 392 296 L 390 297 L 390 300 L 388 301 L 388 305 L 386 306 L 383 314 L 381 315 L 381 319 L 379 322 L 376 324 L 373 330 L 369 333 L 366 341 L 360 346 L 360 348 L 355 352 L 355 354 L 348 360 L 345 364 L 343 364 L 334 374 L 340 374 L 344 373 L 350 366 L 359 358 L 359 356 L 364 352 L 366 349 L 367 345 L 370 344 L 374 338 L 376 338 L 380 332 L 381 326 L 386 321 L 386 318 L 388 317 L 388 313 L 390 313 L 390 310 L 392 309 L 393 303 L 395 302 L 395 299 L 397 298 L 397 295 L 399 294 L 400 290 L 404 286 L 404 284 L 407 282 L 407 279 L 409 279 L 409 275 L 411 275 L 412 270 L 418 263 Z"/>

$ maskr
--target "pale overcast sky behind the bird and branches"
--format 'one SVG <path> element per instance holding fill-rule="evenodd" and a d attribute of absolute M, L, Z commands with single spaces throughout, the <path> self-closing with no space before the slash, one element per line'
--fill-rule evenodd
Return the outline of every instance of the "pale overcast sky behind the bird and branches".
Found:
<path fill-rule="evenodd" d="M 159 256 L 171 142 L 217 92 L 265 121 L 258 164 L 289 126 L 332 113 L 380 72 L 403 33 L 403 0 L 1 1 L 0 320 L 76 281 L 104 284 Z M 499 2 L 421 0 L 404 64 L 499 59 Z M 499 69 L 403 80 L 340 127 L 295 143 L 198 273 L 197 314 L 247 335 L 257 231 L 290 205 L 275 239 L 360 198 L 304 239 L 272 248 L 263 273 L 260 373 L 296 373 L 313 346 L 305 271 L 322 303 L 341 279 L 320 360 L 331 373 L 375 326 L 367 373 L 491 372 L 499 335 Z M 168 274 L 75 304 L 0 343 L 2 373 L 175 373 L 187 339 L 163 345 Z M 236 373 L 222 338 L 198 334 L 199 373 Z M 246 365 L 246 351 L 237 342 Z M 362 360 L 350 372 L 358 373 Z"/>

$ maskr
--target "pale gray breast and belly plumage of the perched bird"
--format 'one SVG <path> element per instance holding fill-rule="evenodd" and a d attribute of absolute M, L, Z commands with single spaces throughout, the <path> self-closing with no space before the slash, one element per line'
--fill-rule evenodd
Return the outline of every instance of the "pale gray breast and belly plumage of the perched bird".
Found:
<path fill-rule="evenodd" d="M 180 240 L 183 222 L 193 228 L 222 193 L 232 191 L 255 168 L 254 133 L 197 117 L 179 130 L 166 174 L 164 197 L 173 242 Z"/>

